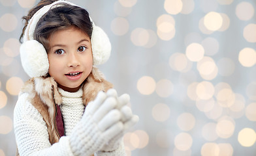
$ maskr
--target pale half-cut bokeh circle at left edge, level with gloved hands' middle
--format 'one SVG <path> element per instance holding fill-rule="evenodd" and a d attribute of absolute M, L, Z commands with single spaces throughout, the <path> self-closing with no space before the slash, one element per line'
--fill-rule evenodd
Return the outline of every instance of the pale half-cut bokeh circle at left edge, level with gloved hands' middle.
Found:
<path fill-rule="evenodd" d="M 8 116 L 0 116 L 0 135 L 7 135 L 12 131 L 12 120 Z"/>

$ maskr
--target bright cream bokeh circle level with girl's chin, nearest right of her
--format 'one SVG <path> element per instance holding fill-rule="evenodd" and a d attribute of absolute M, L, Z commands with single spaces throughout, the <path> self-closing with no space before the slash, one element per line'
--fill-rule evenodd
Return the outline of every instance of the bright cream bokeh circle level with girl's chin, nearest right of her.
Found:
<path fill-rule="evenodd" d="M 144 76 L 138 79 L 137 89 L 140 94 L 150 95 L 155 91 L 155 80 L 152 77 Z"/>

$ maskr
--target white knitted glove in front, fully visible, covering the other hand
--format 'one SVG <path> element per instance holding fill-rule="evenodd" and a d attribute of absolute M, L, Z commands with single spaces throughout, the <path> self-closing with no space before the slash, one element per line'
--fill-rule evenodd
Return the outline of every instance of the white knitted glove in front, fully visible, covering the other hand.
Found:
<path fill-rule="evenodd" d="M 123 131 L 121 112 L 116 108 L 117 100 L 99 92 L 94 101 L 88 103 L 82 119 L 70 136 L 74 155 L 91 155 Z"/>

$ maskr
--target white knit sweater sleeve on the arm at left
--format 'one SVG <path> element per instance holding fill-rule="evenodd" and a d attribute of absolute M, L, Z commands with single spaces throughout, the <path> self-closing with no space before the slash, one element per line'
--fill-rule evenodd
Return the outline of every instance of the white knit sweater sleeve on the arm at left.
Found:
<path fill-rule="evenodd" d="M 46 123 L 39 111 L 22 94 L 14 109 L 14 133 L 19 154 L 22 155 L 73 155 L 69 136 L 51 145 Z"/>

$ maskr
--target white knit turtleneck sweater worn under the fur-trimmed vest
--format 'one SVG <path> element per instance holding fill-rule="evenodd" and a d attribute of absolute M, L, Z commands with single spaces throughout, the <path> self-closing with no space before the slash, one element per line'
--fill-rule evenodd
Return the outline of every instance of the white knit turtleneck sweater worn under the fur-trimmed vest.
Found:
<path fill-rule="evenodd" d="M 39 111 L 27 100 L 28 94 L 20 95 L 14 109 L 14 133 L 20 155 L 74 155 L 69 144 L 72 129 L 84 114 L 82 88 L 78 92 L 65 92 L 59 88 L 63 103 L 61 113 L 65 125 L 65 135 L 59 142 L 51 145 L 48 130 Z M 95 151 L 96 152 L 96 151 Z M 97 153 L 95 153 L 97 155 Z M 100 152 L 98 155 L 125 155 L 123 144 L 112 152 Z"/>

